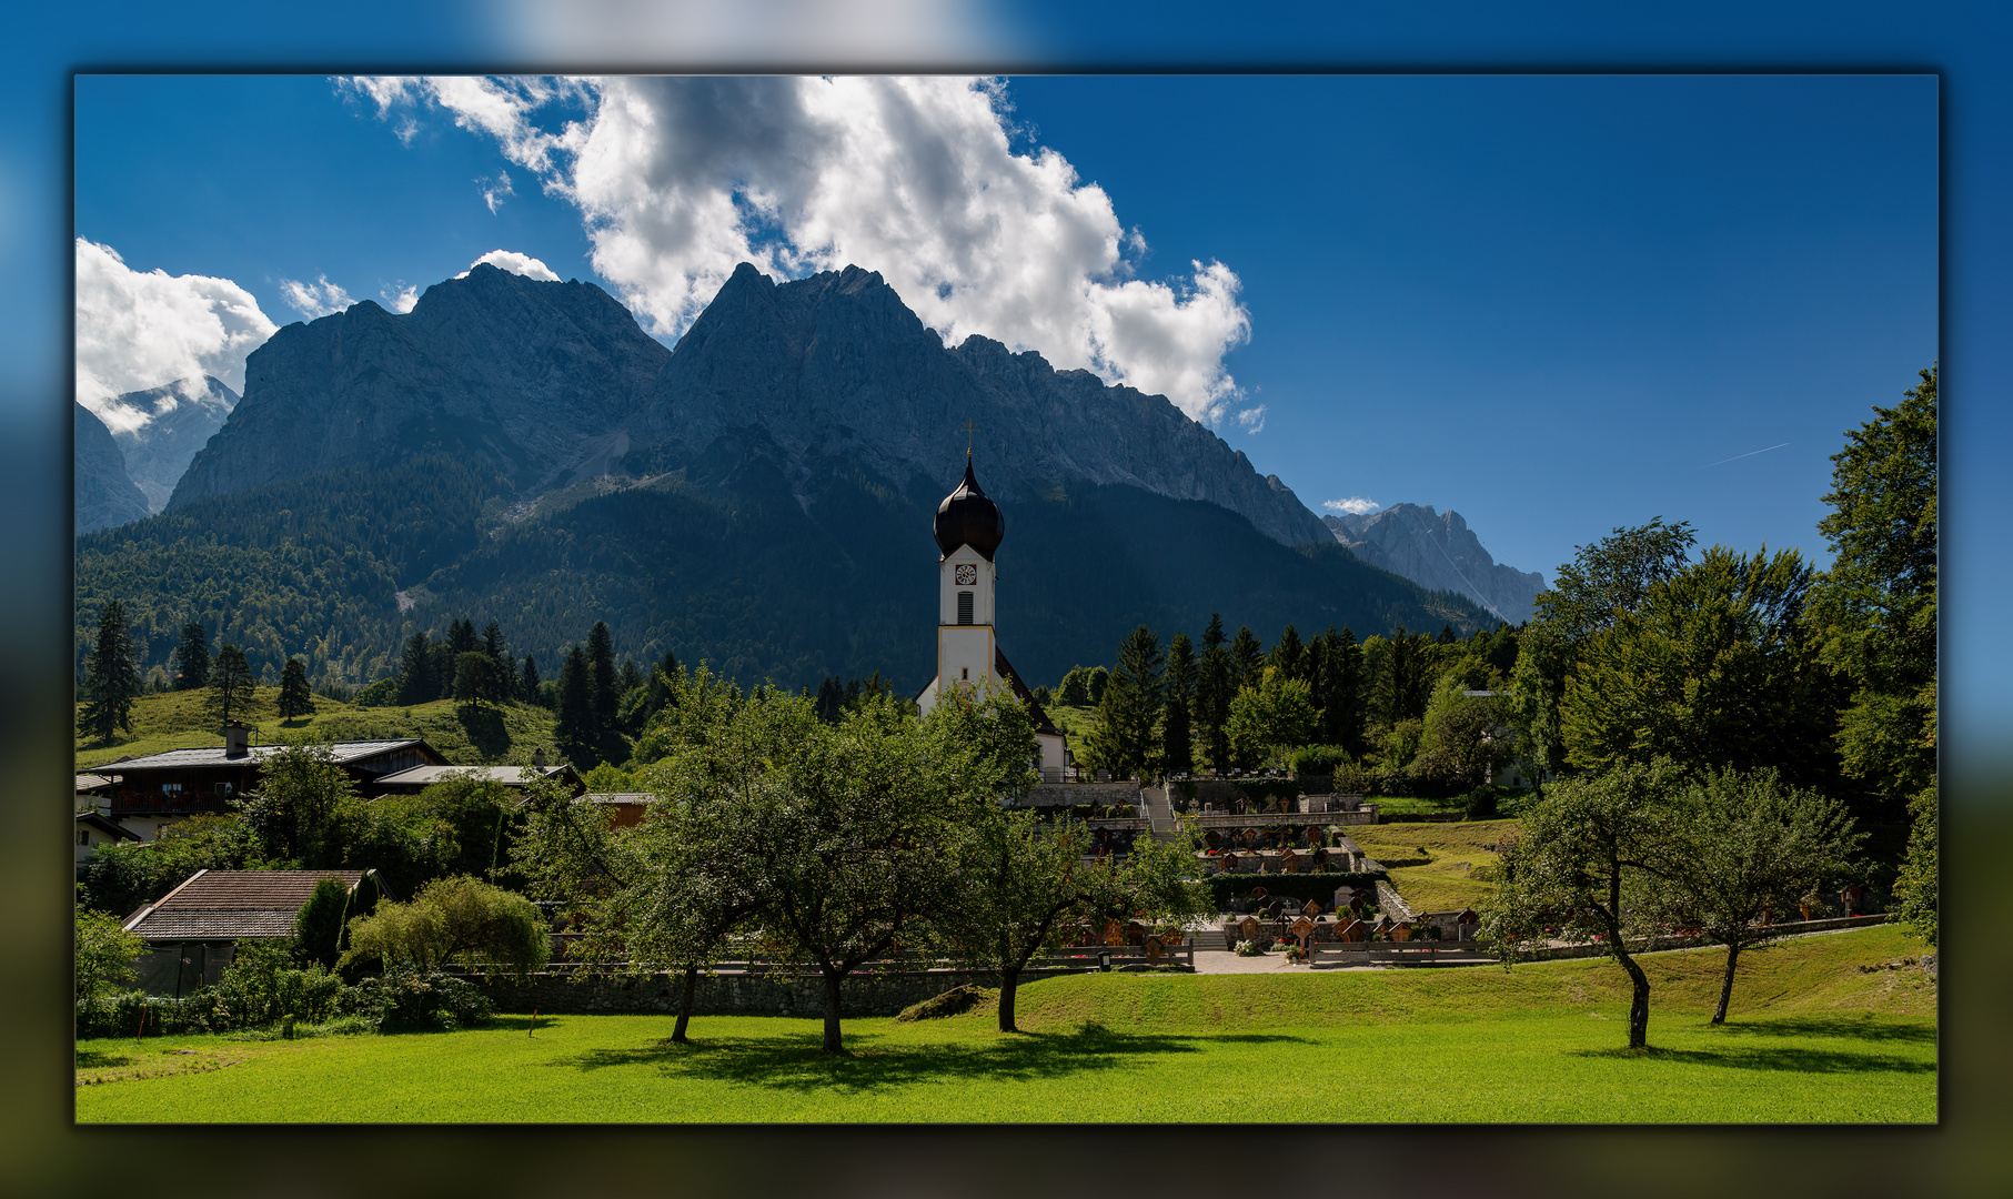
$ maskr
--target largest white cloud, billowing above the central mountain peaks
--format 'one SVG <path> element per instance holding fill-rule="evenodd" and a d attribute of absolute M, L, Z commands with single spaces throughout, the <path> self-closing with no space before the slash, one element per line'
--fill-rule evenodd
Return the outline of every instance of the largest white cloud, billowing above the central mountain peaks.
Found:
<path fill-rule="evenodd" d="M 1015 151 L 984 78 L 360 78 L 380 117 L 445 111 L 574 203 L 590 262 L 660 336 L 733 268 L 878 270 L 948 344 L 984 334 L 1218 422 L 1250 338 L 1236 272 L 1135 278 L 1145 241 L 1053 149 Z M 570 115 L 570 117 L 568 117 Z M 1256 431 L 1262 408 L 1240 424 Z"/>

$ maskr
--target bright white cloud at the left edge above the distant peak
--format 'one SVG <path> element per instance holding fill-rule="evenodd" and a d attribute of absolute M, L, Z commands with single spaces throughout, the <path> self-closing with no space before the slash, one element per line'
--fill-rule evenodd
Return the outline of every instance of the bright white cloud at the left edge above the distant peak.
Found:
<path fill-rule="evenodd" d="M 246 354 L 278 326 L 231 280 L 137 272 L 111 245 L 76 239 L 76 402 L 113 433 L 149 414 L 111 406 L 117 394 L 209 374 L 246 386 Z"/>

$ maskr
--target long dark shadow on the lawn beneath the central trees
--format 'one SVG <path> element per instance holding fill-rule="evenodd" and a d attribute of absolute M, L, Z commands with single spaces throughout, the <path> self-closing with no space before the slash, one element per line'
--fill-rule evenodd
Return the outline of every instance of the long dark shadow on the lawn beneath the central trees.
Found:
<path fill-rule="evenodd" d="M 819 1032 L 795 1036 L 739 1036 L 731 1040 L 650 1042 L 632 1050 L 594 1050 L 562 1058 L 556 1066 L 602 1070 L 656 1064 L 666 1072 L 715 1082 L 741 1082 L 777 1090 L 864 1092 L 912 1082 L 986 1080 L 1031 1082 L 1083 1070 L 1109 1070 L 1129 1060 L 1162 1054 L 1196 1054 L 1204 1042 L 1296 1042 L 1282 1034 L 1176 1036 L 1164 1032 L 1113 1032 L 1085 1026 L 1071 1032 L 988 1034 L 958 1044 L 882 1044 L 878 1034 L 851 1032 L 847 1052 L 819 1050 Z"/>

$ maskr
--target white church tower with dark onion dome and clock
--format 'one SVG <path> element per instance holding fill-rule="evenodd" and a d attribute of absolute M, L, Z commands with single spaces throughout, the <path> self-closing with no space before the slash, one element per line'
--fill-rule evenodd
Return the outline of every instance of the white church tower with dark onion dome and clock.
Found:
<path fill-rule="evenodd" d="M 998 674 L 998 642 L 992 634 L 992 555 L 1006 537 L 1006 517 L 978 487 L 972 459 L 964 457 L 964 481 L 936 505 L 936 688 L 924 692 L 922 710 L 950 688 L 984 694 Z"/>

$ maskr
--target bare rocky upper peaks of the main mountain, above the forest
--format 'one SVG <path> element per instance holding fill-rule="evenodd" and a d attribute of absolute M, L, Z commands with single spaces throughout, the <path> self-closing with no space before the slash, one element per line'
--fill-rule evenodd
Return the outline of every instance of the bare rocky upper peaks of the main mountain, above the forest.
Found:
<path fill-rule="evenodd" d="M 487 264 L 407 316 L 366 300 L 286 326 L 171 503 L 431 451 L 479 457 L 523 495 L 705 461 L 769 463 L 801 495 L 833 459 L 948 491 L 966 422 L 994 489 L 1131 485 L 1228 507 L 1284 545 L 1327 537 L 1276 475 L 1164 396 L 986 338 L 946 350 L 874 272 L 775 284 L 747 264 L 674 350 L 594 284 Z"/>

